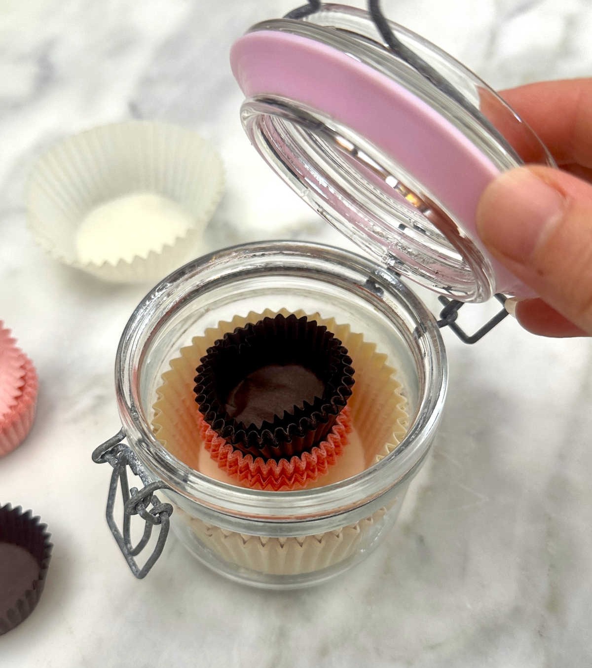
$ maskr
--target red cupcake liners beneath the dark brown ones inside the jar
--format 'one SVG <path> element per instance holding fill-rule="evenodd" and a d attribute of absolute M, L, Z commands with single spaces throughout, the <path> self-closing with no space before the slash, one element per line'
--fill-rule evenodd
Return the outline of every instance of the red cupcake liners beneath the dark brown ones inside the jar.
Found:
<path fill-rule="evenodd" d="M 265 461 L 262 457 L 254 459 L 251 454 L 243 454 L 218 436 L 201 413 L 197 420 L 206 450 L 220 469 L 253 489 L 274 492 L 303 488 L 325 474 L 337 462 L 351 432 L 351 412 L 346 406 L 337 416 L 325 441 L 314 446 L 310 452 L 276 462 L 273 459 Z"/>

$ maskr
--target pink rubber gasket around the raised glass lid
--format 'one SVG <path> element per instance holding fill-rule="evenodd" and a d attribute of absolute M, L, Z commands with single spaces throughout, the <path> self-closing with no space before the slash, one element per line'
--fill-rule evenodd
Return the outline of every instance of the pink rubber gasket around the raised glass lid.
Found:
<path fill-rule="evenodd" d="M 394 158 L 481 249 L 496 292 L 532 296 L 484 251 L 476 232 L 478 200 L 500 170 L 428 104 L 351 55 L 300 35 L 248 33 L 233 45 L 231 65 L 245 96 L 281 96 L 311 106 Z"/>

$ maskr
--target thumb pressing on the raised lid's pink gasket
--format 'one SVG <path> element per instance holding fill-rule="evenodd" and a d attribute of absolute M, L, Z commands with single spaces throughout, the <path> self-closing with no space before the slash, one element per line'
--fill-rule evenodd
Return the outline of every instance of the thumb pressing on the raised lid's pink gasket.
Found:
<path fill-rule="evenodd" d="M 592 186 L 520 167 L 483 193 L 477 230 L 490 253 L 553 309 L 592 334 Z"/>

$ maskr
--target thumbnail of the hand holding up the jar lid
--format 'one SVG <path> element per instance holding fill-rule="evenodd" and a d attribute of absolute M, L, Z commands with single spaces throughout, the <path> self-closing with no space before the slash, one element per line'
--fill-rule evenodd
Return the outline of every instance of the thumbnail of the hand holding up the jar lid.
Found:
<path fill-rule="evenodd" d="M 565 199 L 526 167 L 498 176 L 485 190 L 477 231 L 492 251 L 525 263 L 561 220 Z"/>

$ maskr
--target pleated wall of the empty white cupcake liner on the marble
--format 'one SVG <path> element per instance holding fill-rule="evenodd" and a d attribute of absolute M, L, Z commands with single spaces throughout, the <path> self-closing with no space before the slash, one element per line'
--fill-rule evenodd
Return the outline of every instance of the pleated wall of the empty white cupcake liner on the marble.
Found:
<path fill-rule="evenodd" d="M 156 281 L 202 253 L 200 240 L 223 187 L 218 154 L 191 130 L 149 121 L 100 126 L 61 140 L 37 160 L 27 189 L 29 228 L 66 265 L 116 283 Z M 190 226 L 131 259 L 80 261 L 77 234 L 84 216 L 134 194 L 172 200 L 191 218 Z"/>

